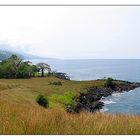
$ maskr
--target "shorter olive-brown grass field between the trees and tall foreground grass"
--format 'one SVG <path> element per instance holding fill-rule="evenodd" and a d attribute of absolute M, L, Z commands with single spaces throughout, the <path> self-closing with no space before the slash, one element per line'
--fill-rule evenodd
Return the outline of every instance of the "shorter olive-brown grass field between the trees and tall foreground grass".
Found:
<path fill-rule="evenodd" d="M 50 81 L 61 81 L 63 86 L 49 85 Z M 67 81 L 60 80 L 54 77 L 50 78 L 35 78 L 35 79 L 1 79 L 0 80 L 0 100 L 5 100 L 19 105 L 32 105 L 36 106 L 36 96 L 39 94 L 49 95 L 62 95 L 65 92 L 73 92 L 77 94 L 80 89 L 97 85 L 99 81 Z"/>

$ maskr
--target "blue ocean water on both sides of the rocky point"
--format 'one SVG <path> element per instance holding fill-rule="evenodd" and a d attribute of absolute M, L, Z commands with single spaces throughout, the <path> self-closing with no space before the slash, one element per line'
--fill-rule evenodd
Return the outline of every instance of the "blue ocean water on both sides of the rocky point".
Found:
<path fill-rule="evenodd" d="M 67 73 L 72 80 L 95 80 L 104 77 L 140 82 L 140 59 L 31 60 L 48 63 L 53 70 Z M 113 94 L 102 99 L 103 112 L 140 114 L 140 88 Z"/>

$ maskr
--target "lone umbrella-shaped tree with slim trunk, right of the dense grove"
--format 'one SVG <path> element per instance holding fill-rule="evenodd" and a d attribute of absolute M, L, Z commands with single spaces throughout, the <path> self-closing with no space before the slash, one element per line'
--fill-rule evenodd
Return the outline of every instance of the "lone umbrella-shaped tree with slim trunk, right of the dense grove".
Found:
<path fill-rule="evenodd" d="M 48 73 L 50 74 L 51 73 L 51 68 L 48 64 L 46 63 L 38 63 L 37 64 L 37 67 L 39 68 L 39 70 L 41 71 L 41 77 L 44 77 L 44 72 L 45 70 L 48 71 Z"/>

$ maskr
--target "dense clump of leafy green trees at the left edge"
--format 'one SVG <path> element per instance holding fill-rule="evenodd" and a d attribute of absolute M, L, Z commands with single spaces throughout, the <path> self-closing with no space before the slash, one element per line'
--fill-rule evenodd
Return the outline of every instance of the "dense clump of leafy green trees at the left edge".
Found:
<path fill-rule="evenodd" d="M 0 62 L 0 78 L 31 78 L 37 71 L 37 66 L 16 55 Z"/>

